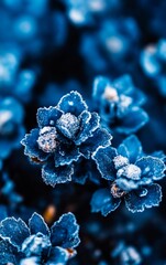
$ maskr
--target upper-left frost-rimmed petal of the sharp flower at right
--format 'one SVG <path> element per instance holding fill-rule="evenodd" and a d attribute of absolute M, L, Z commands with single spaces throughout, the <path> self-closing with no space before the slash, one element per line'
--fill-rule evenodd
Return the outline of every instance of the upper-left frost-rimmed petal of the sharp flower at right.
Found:
<path fill-rule="evenodd" d="M 114 180 L 117 170 L 114 168 L 113 158 L 117 156 L 117 150 L 112 147 L 98 148 L 93 153 L 92 158 L 103 179 Z"/>

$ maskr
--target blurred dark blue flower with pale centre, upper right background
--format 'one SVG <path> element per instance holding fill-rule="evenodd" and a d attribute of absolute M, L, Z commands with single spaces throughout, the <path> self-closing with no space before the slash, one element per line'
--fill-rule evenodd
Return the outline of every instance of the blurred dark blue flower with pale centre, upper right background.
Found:
<path fill-rule="evenodd" d="M 112 74 L 133 73 L 140 54 L 139 41 L 140 29 L 134 18 L 104 19 L 96 31 L 82 34 L 80 54 L 95 72 L 108 73 L 111 68 Z"/>

